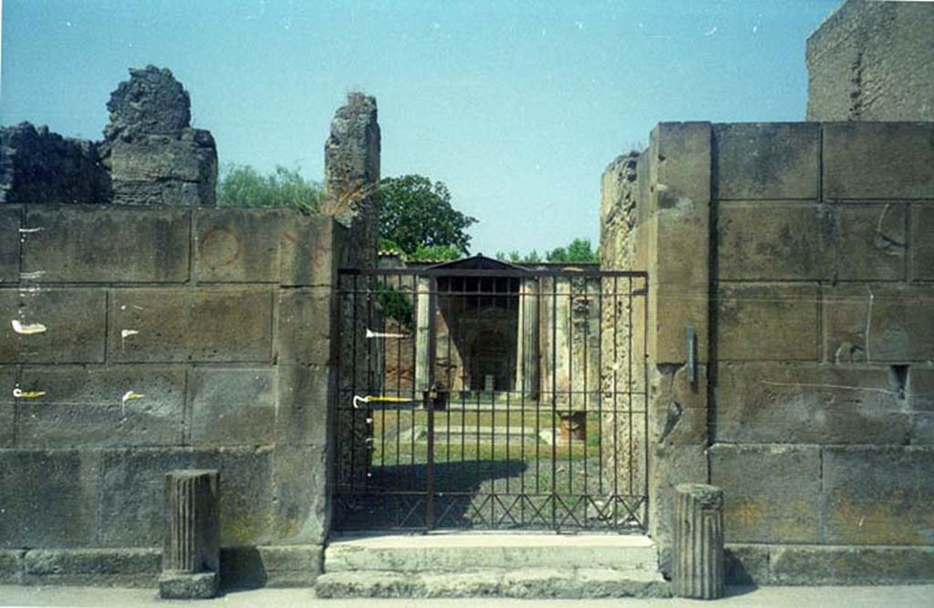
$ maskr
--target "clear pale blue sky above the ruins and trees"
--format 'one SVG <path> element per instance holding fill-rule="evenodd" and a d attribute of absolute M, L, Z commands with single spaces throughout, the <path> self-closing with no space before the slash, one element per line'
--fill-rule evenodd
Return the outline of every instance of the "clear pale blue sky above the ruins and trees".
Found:
<path fill-rule="evenodd" d="M 97 139 L 129 66 L 172 69 L 220 163 L 320 179 L 374 94 L 384 176 L 448 185 L 473 249 L 596 242 L 600 176 L 661 120 L 803 120 L 805 40 L 840 0 L 2 0 L 0 122 Z"/>

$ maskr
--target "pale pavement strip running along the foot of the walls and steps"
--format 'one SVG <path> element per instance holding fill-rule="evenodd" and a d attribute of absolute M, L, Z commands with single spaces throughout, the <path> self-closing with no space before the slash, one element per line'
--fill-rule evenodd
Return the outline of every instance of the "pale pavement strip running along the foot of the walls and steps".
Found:
<path fill-rule="evenodd" d="M 0 606 L 166 606 L 189 602 L 160 601 L 154 589 L 100 587 L 10 587 L 0 586 Z M 511 606 L 547 606 L 549 608 L 610 608 L 611 606 L 682 606 L 711 605 L 706 601 L 686 600 L 317 600 L 310 589 L 252 589 L 230 591 L 215 600 L 190 602 L 210 608 L 380 608 L 435 607 L 494 608 Z M 730 587 L 729 597 L 716 606 L 934 606 L 934 585 L 900 587 Z"/>

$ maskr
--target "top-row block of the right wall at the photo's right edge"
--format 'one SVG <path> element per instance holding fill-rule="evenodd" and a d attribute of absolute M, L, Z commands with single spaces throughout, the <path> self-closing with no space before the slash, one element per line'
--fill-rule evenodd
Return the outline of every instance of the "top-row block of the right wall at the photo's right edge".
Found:
<path fill-rule="evenodd" d="M 825 124 L 824 197 L 934 198 L 934 124 Z"/>

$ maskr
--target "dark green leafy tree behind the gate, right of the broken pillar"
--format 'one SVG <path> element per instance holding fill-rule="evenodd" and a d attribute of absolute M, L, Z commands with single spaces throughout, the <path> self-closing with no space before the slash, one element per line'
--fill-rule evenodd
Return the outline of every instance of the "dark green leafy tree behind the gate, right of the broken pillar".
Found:
<path fill-rule="evenodd" d="M 476 219 L 451 206 L 447 186 L 428 177 L 386 177 L 380 182 L 379 236 L 407 255 L 418 247 L 451 247 L 459 257 L 470 251 L 467 229 Z"/>

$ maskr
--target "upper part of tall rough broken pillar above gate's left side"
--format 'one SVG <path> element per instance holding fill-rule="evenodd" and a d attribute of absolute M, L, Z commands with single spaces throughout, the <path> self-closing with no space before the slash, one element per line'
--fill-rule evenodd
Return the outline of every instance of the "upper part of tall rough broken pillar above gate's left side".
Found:
<path fill-rule="evenodd" d="M 379 122 L 375 97 L 347 95 L 324 144 L 321 210 L 350 229 L 351 265 L 375 267 L 379 218 Z"/>

